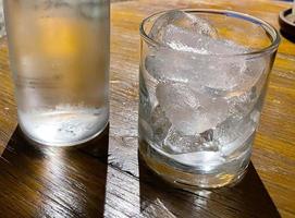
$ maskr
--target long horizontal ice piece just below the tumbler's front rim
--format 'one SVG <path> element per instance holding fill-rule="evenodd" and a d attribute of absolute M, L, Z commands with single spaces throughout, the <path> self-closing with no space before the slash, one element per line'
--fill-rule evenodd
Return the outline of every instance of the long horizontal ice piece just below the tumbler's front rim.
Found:
<path fill-rule="evenodd" d="M 212 92 L 242 89 L 241 85 L 246 86 L 253 80 L 245 73 L 245 59 L 200 57 L 184 52 L 185 49 L 174 49 L 158 48 L 147 56 L 145 68 L 152 77 L 162 82 L 190 83 L 192 87 L 202 86 Z"/>

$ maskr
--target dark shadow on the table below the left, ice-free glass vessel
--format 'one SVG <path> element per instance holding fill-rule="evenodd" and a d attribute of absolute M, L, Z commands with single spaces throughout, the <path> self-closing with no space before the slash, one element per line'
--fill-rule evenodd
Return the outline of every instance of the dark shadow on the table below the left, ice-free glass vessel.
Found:
<path fill-rule="evenodd" d="M 102 217 L 108 147 L 109 126 L 78 149 L 37 148 L 17 128 L 0 157 L 0 217 Z"/>

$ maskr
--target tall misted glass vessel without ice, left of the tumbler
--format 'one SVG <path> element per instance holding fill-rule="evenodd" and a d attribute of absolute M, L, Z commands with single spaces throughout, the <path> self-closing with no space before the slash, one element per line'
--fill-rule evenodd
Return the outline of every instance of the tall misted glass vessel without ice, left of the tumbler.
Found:
<path fill-rule="evenodd" d="M 72 146 L 109 120 L 110 1 L 4 0 L 19 123 L 37 144 Z"/>

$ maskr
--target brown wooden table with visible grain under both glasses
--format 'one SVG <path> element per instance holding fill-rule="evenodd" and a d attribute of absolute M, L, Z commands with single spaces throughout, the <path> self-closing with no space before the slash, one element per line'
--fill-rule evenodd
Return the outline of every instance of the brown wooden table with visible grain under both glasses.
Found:
<path fill-rule="evenodd" d="M 0 217 L 295 217 L 295 44 L 284 37 L 270 76 L 253 165 L 238 185 L 197 193 L 175 190 L 137 157 L 143 17 L 163 9 L 217 8 L 246 12 L 279 28 L 278 14 L 290 5 L 259 0 L 112 3 L 110 128 L 77 150 L 39 150 L 15 130 L 16 107 L 2 40 Z"/>

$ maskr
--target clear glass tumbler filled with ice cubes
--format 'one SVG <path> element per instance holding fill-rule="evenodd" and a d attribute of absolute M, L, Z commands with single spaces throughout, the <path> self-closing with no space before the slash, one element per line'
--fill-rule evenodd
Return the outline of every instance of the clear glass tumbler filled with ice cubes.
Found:
<path fill-rule="evenodd" d="M 280 36 L 233 11 L 165 11 L 140 25 L 139 153 L 182 189 L 246 172 Z"/>

